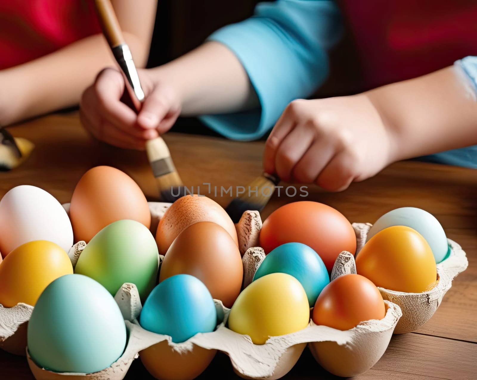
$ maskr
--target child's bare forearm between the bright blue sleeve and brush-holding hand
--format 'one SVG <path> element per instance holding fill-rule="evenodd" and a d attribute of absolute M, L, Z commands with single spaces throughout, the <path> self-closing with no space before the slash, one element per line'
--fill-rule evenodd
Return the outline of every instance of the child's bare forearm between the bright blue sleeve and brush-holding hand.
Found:
<path fill-rule="evenodd" d="M 259 104 L 239 60 L 218 42 L 206 42 L 151 71 L 176 91 L 182 115 L 237 112 Z"/>

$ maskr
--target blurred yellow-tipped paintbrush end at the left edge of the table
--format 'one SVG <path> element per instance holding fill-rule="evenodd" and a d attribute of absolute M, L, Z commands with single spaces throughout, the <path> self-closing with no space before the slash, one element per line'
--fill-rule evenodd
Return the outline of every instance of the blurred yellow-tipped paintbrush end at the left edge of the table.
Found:
<path fill-rule="evenodd" d="M 8 171 L 19 166 L 28 158 L 34 145 L 20 137 L 14 138 L 8 130 L 0 127 L 0 171 Z"/>

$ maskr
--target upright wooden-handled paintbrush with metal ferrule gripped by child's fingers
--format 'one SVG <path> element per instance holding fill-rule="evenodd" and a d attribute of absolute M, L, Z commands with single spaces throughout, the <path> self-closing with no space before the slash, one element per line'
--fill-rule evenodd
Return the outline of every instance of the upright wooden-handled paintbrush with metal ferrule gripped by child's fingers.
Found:
<path fill-rule="evenodd" d="M 114 13 L 110 0 L 95 0 L 96 13 L 103 30 L 104 37 L 113 51 L 121 71 L 124 74 L 126 91 L 123 101 L 131 108 L 139 112 L 141 103 L 144 101 L 144 92 L 141 88 L 139 76 L 133 61 L 131 50 L 127 46 L 119 21 Z M 129 99 L 128 99 L 129 98 Z M 147 157 L 151 165 L 161 200 L 173 202 L 185 194 L 185 188 L 177 174 L 171 154 L 161 137 L 147 141 Z"/>

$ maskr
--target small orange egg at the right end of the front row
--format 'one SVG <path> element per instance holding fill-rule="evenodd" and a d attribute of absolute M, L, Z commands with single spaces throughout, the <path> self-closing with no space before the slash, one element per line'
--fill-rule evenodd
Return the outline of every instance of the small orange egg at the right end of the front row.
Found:
<path fill-rule="evenodd" d="M 384 300 L 378 288 L 359 274 L 344 274 L 321 290 L 313 308 L 313 322 L 349 330 L 365 320 L 381 320 Z"/>

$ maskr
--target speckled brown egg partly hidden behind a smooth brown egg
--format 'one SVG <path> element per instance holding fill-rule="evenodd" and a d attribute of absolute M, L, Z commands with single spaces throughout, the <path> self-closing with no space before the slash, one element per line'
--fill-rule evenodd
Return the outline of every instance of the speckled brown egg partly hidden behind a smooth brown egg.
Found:
<path fill-rule="evenodd" d="M 183 230 L 194 223 L 210 221 L 225 229 L 237 246 L 237 230 L 227 212 L 207 197 L 186 195 L 176 200 L 159 221 L 156 242 L 159 253 L 165 255 L 170 245 Z"/>

